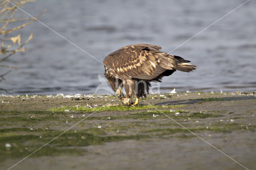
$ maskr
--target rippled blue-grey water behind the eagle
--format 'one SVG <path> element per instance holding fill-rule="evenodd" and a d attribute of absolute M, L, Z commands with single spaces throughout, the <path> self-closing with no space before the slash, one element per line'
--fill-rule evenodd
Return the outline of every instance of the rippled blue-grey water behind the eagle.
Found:
<path fill-rule="evenodd" d="M 112 51 L 134 43 L 160 45 L 169 52 L 232 11 L 242 0 L 58 1 L 38 0 L 23 10 L 103 61 Z M 198 66 L 192 73 L 164 77 L 161 92 L 256 91 L 256 2 L 249 1 L 172 54 Z M 20 12 L 24 17 L 25 13 Z M 39 22 L 20 30 L 33 40 L 25 53 L 1 64 L 19 67 L 6 75 L 0 88 L 14 95 L 94 93 L 103 77 L 102 63 Z M 9 69 L 0 68 L 1 74 Z M 0 93 L 6 94 L 1 91 Z M 97 93 L 110 93 L 100 89 Z"/>

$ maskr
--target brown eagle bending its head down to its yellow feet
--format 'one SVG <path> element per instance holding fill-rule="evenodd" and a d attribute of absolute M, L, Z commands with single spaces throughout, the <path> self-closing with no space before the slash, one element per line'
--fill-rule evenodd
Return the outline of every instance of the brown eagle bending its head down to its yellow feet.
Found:
<path fill-rule="evenodd" d="M 104 59 L 104 75 L 124 105 L 139 105 L 139 98 L 146 98 L 151 81 L 162 82 L 162 77 L 176 70 L 191 72 L 196 69 L 190 61 L 159 49 L 160 46 L 152 44 L 127 45 Z M 132 102 L 133 96 L 136 96 L 135 102 Z"/>

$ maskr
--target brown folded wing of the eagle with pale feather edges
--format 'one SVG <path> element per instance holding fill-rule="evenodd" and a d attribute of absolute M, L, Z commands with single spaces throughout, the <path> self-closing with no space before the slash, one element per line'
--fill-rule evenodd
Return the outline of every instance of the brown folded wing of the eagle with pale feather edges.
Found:
<path fill-rule="evenodd" d="M 127 45 L 110 53 L 103 63 L 110 74 L 120 79 L 153 79 L 166 69 L 175 69 L 178 60 L 159 49 L 151 44 Z"/>

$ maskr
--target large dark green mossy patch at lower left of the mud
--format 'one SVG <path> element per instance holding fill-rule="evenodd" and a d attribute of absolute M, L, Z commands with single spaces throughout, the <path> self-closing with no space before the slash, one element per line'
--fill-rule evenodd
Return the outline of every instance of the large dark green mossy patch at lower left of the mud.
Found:
<path fill-rule="evenodd" d="M 24 128 L 12 128 L 8 130 L 1 129 L 1 134 L 4 134 L 8 131 L 18 131 L 25 130 Z M 44 148 L 38 150 L 32 157 L 38 156 L 57 156 L 61 154 L 82 154 L 85 151 L 78 148 L 66 148 L 68 146 L 88 146 L 94 144 L 103 144 L 104 142 L 114 142 L 122 141 L 129 139 L 142 139 L 148 138 L 146 135 L 114 135 L 114 136 L 99 136 L 97 134 L 91 134 L 90 132 L 95 132 L 101 130 L 103 132 L 97 134 L 105 134 L 104 129 L 87 129 L 87 130 L 70 130 L 62 134 L 50 144 L 44 146 Z M 0 161 L 5 160 L 6 158 L 20 158 L 25 157 L 34 152 L 36 149 L 43 146 L 45 143 L 52 140 L 52 138 L 61 134 L 62 131 L 55 130 L 54 132 L 39 130 L 41 133 L 37 135 L 26 134 L 26 135 L 0 135 Z M 45 131 L 45 132 L 44 132 Z M 10 144 L 11 147 L 6 147 L 6 144 Z"/>

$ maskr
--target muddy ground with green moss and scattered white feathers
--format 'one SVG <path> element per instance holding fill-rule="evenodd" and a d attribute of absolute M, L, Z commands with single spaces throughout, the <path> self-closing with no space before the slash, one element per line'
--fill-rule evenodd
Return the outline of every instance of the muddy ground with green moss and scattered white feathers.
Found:
<path fill-rule="evenodd" d="M 255 169 L 256 94 L 199 94 L 0 96 L 0 169 Z"/>

